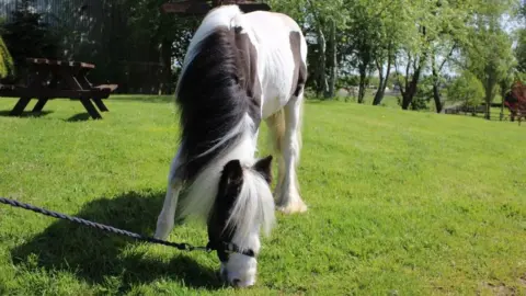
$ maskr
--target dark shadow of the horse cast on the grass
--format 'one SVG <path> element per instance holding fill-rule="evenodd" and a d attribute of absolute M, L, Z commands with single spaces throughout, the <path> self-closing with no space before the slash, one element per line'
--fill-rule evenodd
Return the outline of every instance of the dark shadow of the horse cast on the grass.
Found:
<path fill-rule="evenodd" d="M 149 236 L 155 230 L 163 197 L 163 193 L 132 192 L 90 202 L 75 216 Z M 170 262 L 161 262 L 145 258 L 140 251 L 123 253 L 130 243 L 136 242 L 132 238 L 58 220 L 13 249 L 11 255 L 15 264 L 25 265 L 36 254 L 37 267 L 66 271 L 91 284 L 104 286 L 108 276 L 116 276 L 122 282 L 121 293 L 161 277 L 181 280 L 192 287 L 216 289 L 222 286 L 215 271 L 199 265 L 191 253 L 181 252 Z"/>

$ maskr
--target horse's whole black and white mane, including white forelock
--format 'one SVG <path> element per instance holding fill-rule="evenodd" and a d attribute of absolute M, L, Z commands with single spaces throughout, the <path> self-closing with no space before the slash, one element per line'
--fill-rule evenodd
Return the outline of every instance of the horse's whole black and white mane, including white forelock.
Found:
<path fill-rule="evenodd" d="M 208 215 L 222 167 L 229 160 L 240 159 L 247 166 L 254 162 L 253 136 L 261 117 L 259 101 L 249 96 L 247 90 L 251 73 L 243 62 L 248 62 L 249 53 L 238 47 L 238 32 L 232 26 L 232 20 L 240 14 L 237 7 L 210 12 L 186 54 L 175 100 L 181 114 L 183 179 L 190 184 L 179 216 Z M 231 215 L 231 223 L 240 232 L 253 226 L 247 225 L 248 219 L 260 217 L 264 224 L 273 220 L 273 212 L 268 217 L 268 194 L 260 179 L 263 180 L 245 173 Z M 270 192 L 268 185 L 266 191 Z"/>

